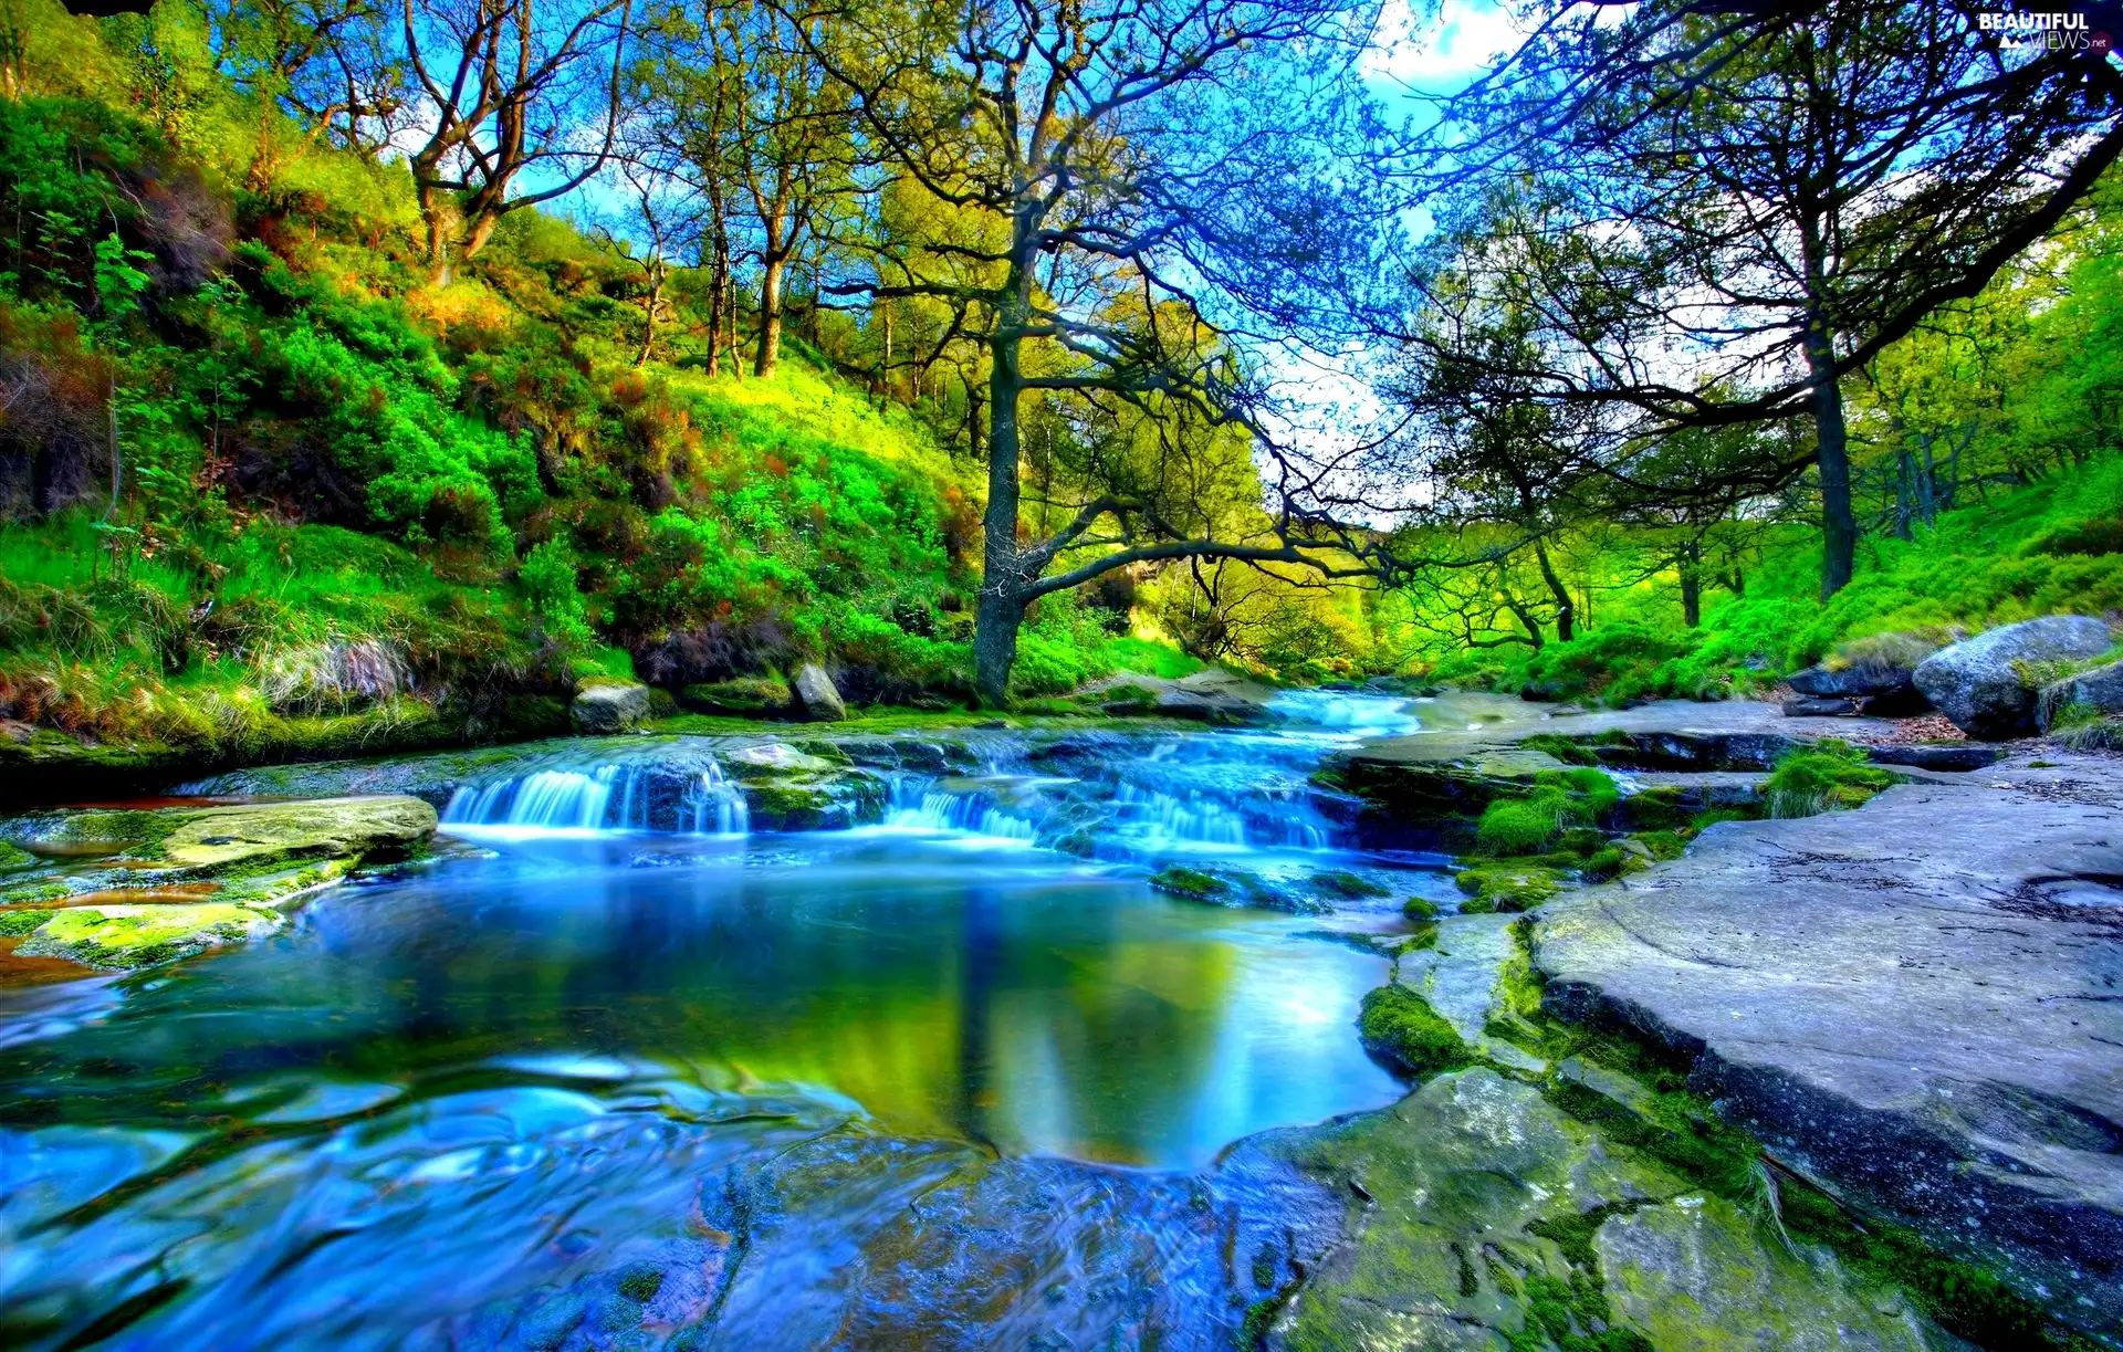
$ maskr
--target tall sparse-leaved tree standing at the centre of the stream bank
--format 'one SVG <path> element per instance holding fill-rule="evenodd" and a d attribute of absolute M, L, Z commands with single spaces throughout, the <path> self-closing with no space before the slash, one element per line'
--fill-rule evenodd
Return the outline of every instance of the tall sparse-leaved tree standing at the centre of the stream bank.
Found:
<path fill-rule="evenodd" d="M 826 291 L 943 301 L 985 357 L 985 388 L 968 391 L 987 456 L 985 703 L 1008 698 L 1025 607 L 1112 569 L 1189 556 L 1367 567 L 1376 545 L 1333 520 L 1318 467 L 1265 437 L 1276 505 L 1263 539 L 1219 539 L 1208 514 L 1172 509 L 1189 505 L 1187 469 L 1223 446 L 1219 429 L 1265 429 L 1238 350 L 1246 325 L 1318 329 L 1371 261 L 1374 204 L 1331 161 L 1369 129 L 1352 57 L 1374 8 L 775 2 L 845 89 L 883 174 L 943 225 L 879 231 L 868 276 Z M 822 25 L 862 42 L 834 51 Z M 1102 424 L 1072 437 L 1083 473 L 1045 503 L 1053 528 L 1021 537 L 1025 412 L 1040 397 Z"/>

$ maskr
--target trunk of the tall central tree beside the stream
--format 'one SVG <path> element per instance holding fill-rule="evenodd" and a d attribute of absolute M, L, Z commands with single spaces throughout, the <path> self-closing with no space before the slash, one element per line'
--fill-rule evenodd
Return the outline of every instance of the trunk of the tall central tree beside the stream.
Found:
<path fill-rule="evenodd" d="M 1025 620 L 1023 554 L 1017 548 L 1017 399 L 1023 393 L 1019 348 L 1030 312 L 1030 274 L 1013 263 L 1004 282 L 1002 314 L 989 348 L 987 374 L 987 512 L 981 605 L 972 628 L 972 690 L 981 705 L 1011 703 L 1011 664 L 1017 662 L 1017 628 Z"/>

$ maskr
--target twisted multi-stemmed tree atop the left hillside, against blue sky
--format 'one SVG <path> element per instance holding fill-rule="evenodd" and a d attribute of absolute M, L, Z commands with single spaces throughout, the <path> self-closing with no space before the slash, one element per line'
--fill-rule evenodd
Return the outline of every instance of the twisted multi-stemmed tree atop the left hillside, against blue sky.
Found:
<path fill-rule="evenodd" d="M 622 121 L 633 0 L 401 4 L 420 100 L 405 161 L 442 282 L 452 255 L 478 255 L 501 216 L 573 193 L 605 168 Z M 603 129 L 584 144 L 588 108 Z M 522 180 L 541 187 L 518 191 Z"/>

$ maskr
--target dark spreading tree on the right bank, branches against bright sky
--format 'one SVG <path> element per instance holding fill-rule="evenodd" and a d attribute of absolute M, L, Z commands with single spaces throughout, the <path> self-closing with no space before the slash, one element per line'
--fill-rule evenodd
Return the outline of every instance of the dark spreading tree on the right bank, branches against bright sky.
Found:
<path fill-rule="evenodd" d="M 1830 596 L 1858 537 L 1845 378 L 2066 219 L 2123 153 L 2119 91 L 2104 53 L 2006 49 L 1977 6 L 1565 0 L 1446 100 L 1442 178 L 1531 227 L 1446 272 L 1537 314 L 1539 395 L 1639 446 L 1805 414 Z"/>

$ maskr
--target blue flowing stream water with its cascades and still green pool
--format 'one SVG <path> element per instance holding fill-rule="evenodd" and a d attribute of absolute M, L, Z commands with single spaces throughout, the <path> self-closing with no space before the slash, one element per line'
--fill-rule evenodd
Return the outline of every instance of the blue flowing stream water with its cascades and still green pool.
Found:
<path fill-rule="evenodd" d="M 900 739 L 811 832 L 698 739 L 289 770 L 463 845 L 0 991 L 0 1346 L 1227 1346 L 1340 1216 L 1233 1142 L 1399 1095 L 1352 1027 L 1386 961 L 1335 940 L 1439 877 L 1306 783 L 1420 705 L 1284 713 Z M 1176 860 L 1384 896 L 1202 906 Z"/>

